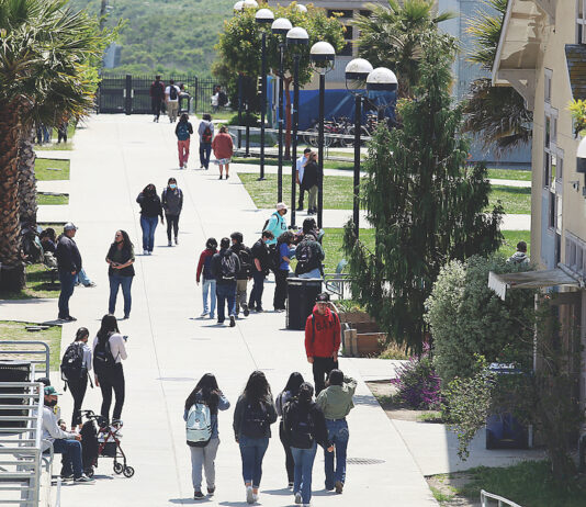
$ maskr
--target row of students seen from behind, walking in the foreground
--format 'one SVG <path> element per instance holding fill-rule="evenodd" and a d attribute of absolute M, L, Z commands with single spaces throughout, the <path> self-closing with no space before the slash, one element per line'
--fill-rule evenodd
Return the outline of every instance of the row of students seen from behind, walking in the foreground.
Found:
<path fill-rule="evenodd" d="M 288 487 L 292 489 L 295 504 L 309 506 L 317 446 L 324 449 L 326 489 L 335 489 L 338 494 L 343 492 L 349 440 L 346 416 L 353 408 L 356 386 L 353 379 L 345 376 L 340 370 L 333 370 L 325 388 L 317 391 L 314 399 L 313 385 L 304 382 L 301 373 L 294 372 L 277 396 L 275 403 L 264 373 L 255 371 L 250 374 L 236 402 L 233 418 L 248 504 L 259 499 L 262 461 L 272 436 L 271 425 L 279 418 Z M 215 493 L 215 458 L 219 446 L 217 414 L 229 406 L 211 373 L 202 376 L 185 399 L 183 419 L 187 422 L 187 443 L 191 452 L 194 499 L 205 498 L 202 492 L 202 470 L 205 473 L 207 496 Z M 201 419 L 205 419 L 207 414 L 210 422 L 203 427 Z"/>

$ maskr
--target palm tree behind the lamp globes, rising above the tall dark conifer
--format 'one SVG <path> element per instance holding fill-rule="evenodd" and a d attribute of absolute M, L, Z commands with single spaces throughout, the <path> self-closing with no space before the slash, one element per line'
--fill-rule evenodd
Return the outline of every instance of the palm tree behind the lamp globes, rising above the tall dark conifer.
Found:
<path fill-rule="evenodd" d="M 450 36 L 438 31 L 438 23 L 454 16 L 451 12 L 433 13 L 433 0 L 387 0 L 388 7 L 369 3 L 370 15 L 358 15 L 354 26 L 360 31 L 358 52 L 374 67 L 388 67 L 398 80 L 398 97 L 413 98 L 419 83 L 425 35 L 433 32 L 446 49 L 451 50 Z"/>

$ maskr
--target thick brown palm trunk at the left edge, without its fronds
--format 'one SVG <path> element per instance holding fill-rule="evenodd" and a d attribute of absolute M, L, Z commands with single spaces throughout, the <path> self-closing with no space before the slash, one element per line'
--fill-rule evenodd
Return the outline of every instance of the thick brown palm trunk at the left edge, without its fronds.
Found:
<path fill-rule="evenodd" d="M 19 104 L 0 102 L 0 290 L 24 288 L 19 221 Z"/>

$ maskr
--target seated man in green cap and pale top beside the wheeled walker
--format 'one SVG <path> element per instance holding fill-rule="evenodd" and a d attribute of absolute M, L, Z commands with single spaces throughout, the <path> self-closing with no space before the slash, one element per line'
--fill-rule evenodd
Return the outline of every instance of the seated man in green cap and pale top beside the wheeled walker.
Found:
<path fill-rule="evenodd" d="M 43 406 L 43 451 L 53 446 L 56 454 L 63 454 L 61 478 L 74 478 L 76 483 L 92 483 L 93 481 L 83 473 L 81 461 L 81 436 L 70 433 L 59 428 L 56 414 L 57 396 L 55 387 L 45 387 L 45 403 Z"/>

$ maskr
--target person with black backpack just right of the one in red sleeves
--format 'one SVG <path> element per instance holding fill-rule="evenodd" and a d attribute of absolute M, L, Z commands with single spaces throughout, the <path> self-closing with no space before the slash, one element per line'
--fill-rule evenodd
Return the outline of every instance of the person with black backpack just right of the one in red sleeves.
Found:
<path fill-rule="evenodd" d="M 212 274 L 216 279 L 217 324 L 224 324 L 226 301 L 230 327 L 236 326 L 236 277 L 240 271 L 240 260 L 230 248 L 230 240 L 222 238 L 219 251 L 212 257 Z"/>

